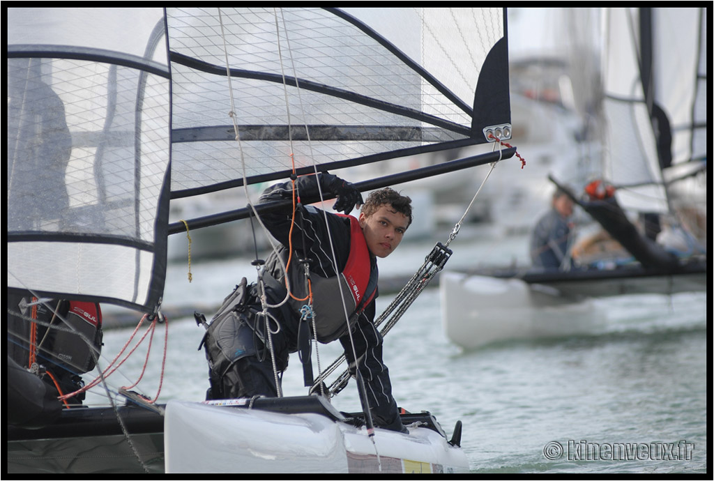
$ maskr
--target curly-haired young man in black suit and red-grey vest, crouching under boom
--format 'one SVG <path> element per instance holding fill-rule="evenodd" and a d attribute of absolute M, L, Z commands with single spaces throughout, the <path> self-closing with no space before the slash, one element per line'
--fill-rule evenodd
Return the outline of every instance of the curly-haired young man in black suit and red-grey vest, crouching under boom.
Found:
<path fill-rule="evenodd" d="M 244 294 L 234 291 L 233 297 L 226 298 L 213 323 L 226 309 L 235 311 L 236 302 L 243 307 L 238 308 L 241 315 L 234 316 L 233 328 L 221 328 L 225 335 L 233 333 L 234 344 L 227 349 L 230 354 L 226 363 L 213 368 L 208 398 L 276 396 L 276 375 L 266 345 L 268 348 L 272 345 L 278 372 L 287 368 L 288 353 L 299 351 L 307 373 L 311 369 L 307 336 L 313 328 L 314 316 L 318 340 L 329 343 L 338 339 L 351 372 L 355 374 L 357 368 L 361 373 L 375 425 L 406 432 L 382 360 L 382 337 L 373 320 L 376 260 L 390 255 L 401 243 L 412 221 L 411 199 L 391 188 L 373 191 L 355 218 L 348 213 L 363 202 L 361 193 L 351 183 L 320 173 L 297 178 L 295 186 L 301 198 L 317 198 L 319 191 L 336 194 L 333 208 L 345 214 L 307 206 L 298 207 L 295 214 L 288 209 L 261 215 L 268 231 L 281 244 L 263 270 L 261 280 L 266 300 L 270 305 L 278 305 L 286 298 L 288 301 L 269 308 L 268 315 L 263 315 L 261 283 L 245 286 Z M 293 182 L 287 181 L 266 189 L 261 203 L 291 198 Z M 283 265 L 287 266 L 287 276 Z M 244 299 L 236 301 L 241 297 Z M 267 330 L 270 335 L 266 335 Z M 208 345 L 210 340 L 206 342 Z M 311 374 L 306 375 L 308 378 Z"/>

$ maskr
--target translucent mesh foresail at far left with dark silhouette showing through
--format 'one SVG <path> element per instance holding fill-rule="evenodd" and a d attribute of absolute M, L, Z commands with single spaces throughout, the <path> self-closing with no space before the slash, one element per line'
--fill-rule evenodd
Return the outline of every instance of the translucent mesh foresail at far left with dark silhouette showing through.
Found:
<path fill-rule="evenodd" d="M 153 310 L 164 288 L 163 9 L 9 9 L 7 281 Z"/>

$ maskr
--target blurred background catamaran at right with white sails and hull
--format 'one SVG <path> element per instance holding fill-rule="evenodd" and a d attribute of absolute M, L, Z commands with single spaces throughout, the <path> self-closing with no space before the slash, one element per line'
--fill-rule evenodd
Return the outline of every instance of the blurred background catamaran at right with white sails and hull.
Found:
<path fill-rule="evenodd" d="M 458 345 L 596 332 L 605 313 L 589 298 L 707 289 L 706 9 L 600 15 L 603 96 L 595 131 L 603 146 L 600 178 L 615 186 L 617 205 L 581 196 L 593 177 L 553 172 L 551 180 L 570 189 L 618 249 L 571 270 L 442 275 L 443 326 Z M 648 234 L 644 226 L 653 219 Z"/>

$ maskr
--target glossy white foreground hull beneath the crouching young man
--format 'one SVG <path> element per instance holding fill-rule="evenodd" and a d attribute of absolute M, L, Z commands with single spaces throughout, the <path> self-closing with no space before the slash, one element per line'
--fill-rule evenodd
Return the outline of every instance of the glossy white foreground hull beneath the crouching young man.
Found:
<path fill-rule="evenodd" d="M 408 429 L 376 429 L 373 444 L 364 427 L 312 412 L 170 401 L 166 472 L 468 472 L 463 450 L 431 429 Z"/>

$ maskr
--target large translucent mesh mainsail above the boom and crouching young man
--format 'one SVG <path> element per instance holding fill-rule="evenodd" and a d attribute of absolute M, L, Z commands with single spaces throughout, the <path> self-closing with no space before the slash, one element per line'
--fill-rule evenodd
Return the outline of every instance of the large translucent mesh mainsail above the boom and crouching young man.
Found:
<path fill-rule="evenodd" d="M 349 166 L 484 143 L 475 116 L 510 122 L 508 55 L 489 56 L 506 42 L 502 9 L 166 15 L 174 192 L 242 183 L 243 168 L 253 183 L 293 161 L 298 169 Z M 487 88 L 478 103 L 484 70 L 498 71 L 505 99 Z"/>

